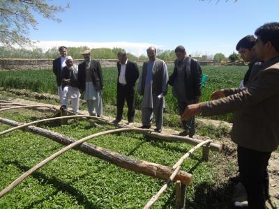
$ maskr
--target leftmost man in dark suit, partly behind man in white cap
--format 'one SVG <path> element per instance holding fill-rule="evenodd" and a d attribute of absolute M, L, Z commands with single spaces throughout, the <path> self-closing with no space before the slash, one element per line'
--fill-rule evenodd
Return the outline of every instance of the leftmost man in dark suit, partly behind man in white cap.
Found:
<path fill-rule="evenodd" d="M 59 99 L 62 104 L 62 98 L 63 98 L 63 90 L 62 90 L 62 80 L 61 80 L 61 70 L 66 66 L 65 63 L 65 58 L 67 56 L 67 47 L 61 46 L 58 49 L 59 53 L 60 53 L 60 57 L 57 59 L 54 59 L 54 61 L 52 62 L 52 71 L 56 77 L 56 84 L 58 87 L 58 95 L 59 95 Z"/>

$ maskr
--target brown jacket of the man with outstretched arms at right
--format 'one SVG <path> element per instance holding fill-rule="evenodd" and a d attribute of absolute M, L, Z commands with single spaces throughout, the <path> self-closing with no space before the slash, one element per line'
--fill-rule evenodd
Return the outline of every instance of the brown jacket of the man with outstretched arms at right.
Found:
<path fill-rule="evenodd" d="M 275 60 L 276 61 L 276 60 Z M 244 148 L 271 152 L 279 145 L 279 57 L 244 88 L 225 89 L 226 98 L 202 102 L 202 115 L 234 111 L 232 141 Z"/>

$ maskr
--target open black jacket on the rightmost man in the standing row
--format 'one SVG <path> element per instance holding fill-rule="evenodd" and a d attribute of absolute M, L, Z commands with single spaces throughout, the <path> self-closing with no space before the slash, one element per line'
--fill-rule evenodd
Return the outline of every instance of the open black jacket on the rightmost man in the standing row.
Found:
<path fill-rule="evenodd" d="M 200 68 L 199 62 L 195 59 L 190 61 L 190 76 L 186 74 L 185 77 L 185 88 L 186 88 L 186 98 L 188 100 L 195 100 L 197 96 L 200 96 L 202 93 L 202 69 Z M 178 60 L 174 61 L 174 72 L 169 76 L 169 85 L 173 86 L 176 75 L 177 68 L 176 63 Z"/>

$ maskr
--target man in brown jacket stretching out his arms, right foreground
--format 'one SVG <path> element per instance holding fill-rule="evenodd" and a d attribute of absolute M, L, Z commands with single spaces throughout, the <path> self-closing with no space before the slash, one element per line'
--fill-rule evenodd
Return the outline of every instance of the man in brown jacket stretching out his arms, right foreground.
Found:
<path fill-rule="evenodd" d="M 244 88 L 220 89 L 211 95 L 212 101 L 188 105 L 181 117 L 234 112 L 232 141 L 238 145 L 248 208 L 262 209 L 269 198 L 267 165 L 279 145 L 279 22 L 260 26 L 255 35 L 256 56 L 264 61 L 262 72 Z"/>

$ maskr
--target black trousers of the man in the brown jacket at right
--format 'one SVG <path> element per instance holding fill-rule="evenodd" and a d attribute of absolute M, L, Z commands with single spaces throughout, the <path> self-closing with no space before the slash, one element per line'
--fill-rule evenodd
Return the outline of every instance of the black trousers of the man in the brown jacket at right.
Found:
<path fill-rule="evenodd" d="M 246 189 L 248 208 L 264 209 L 265 201 L 269 198 L 269 173 L 267 165 L 271 152 L 259 152 L 237 147 L 239 176 Z"/>

